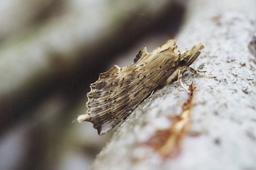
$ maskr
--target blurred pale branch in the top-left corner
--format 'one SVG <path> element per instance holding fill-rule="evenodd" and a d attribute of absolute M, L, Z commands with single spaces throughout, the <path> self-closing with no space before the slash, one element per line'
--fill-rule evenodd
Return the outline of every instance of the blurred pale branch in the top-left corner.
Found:
<path fill-rule="evenodd" d="M 48 19 L 48 16 L 56 15 L 59 7 L 61 7 L 60 0 L 2 0 L 0 2 L 1 43 L 7 38 L 15 38 L 28 27 Z"/>

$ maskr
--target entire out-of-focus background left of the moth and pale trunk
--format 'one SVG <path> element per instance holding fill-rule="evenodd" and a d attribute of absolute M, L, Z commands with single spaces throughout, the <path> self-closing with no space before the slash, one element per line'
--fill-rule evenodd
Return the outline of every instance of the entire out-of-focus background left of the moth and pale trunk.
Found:
<path fill-rule="evenodd" d="M 175 38 L 187 1 L 1 0 L 0 169 L 88 169 L 113 131 L 72 123 L 98 74 Z"/>

